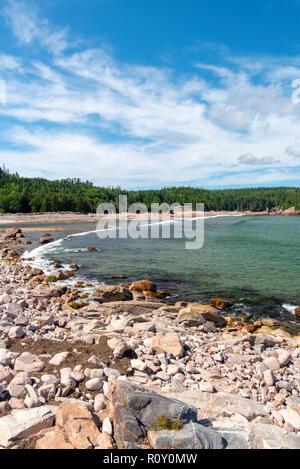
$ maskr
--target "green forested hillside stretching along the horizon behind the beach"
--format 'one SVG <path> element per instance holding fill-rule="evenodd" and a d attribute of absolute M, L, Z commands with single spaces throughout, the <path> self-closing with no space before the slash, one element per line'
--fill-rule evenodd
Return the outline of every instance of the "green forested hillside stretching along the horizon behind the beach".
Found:
<path fill-rule="evenodd" d="M 0 168 L 0 212 L 95 212 L 101 202 L 118 203 L 119 194 L 128 196 L 128 204 L 142 202 L 204 203 L 205 210 L 252 210 L 296 207 L 300 209 L 300 188 L 274 187 L 254 189 L 207 190 L 192 187 L 168 187 L 159 190 L 125 191 L 97 187 L 80 179 L 49 181 L 23 178 Z"/>

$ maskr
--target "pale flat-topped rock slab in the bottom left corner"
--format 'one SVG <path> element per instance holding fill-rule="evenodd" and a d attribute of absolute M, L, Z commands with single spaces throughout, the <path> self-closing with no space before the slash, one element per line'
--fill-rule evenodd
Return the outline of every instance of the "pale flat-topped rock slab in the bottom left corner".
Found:
<path fill-rule="evenodd" d="M 44 428 L 52 427 L 57 407 L 42 406 L 17 409 L 0 419 L 0 447 L 7 448 L 13 441 L 29 438 Z"/>

